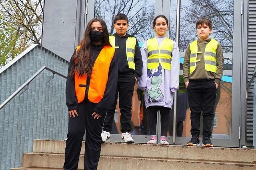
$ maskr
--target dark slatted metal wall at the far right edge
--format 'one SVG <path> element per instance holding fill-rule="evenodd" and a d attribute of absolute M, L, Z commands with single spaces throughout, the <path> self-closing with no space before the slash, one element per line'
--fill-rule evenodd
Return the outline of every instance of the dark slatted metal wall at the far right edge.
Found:
<path fill-rule="evenodd" d="M 256 65 L 256 0 L 249 0 L 249 19 L 248 19 L 248 76 L 250 81 Z M 250 87 L 253 90 L 253 83 Z M 246 115 L 246 141 L 252 142 L 253 139 L 253 94 L 249 92 L 247 100 Z"/>

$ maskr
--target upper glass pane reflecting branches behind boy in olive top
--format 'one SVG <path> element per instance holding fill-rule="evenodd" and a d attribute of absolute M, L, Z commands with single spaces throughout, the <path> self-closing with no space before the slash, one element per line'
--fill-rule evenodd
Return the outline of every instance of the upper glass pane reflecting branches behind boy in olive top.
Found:
<path fill-rule="evenodd" d="M 212 38 L 221 45 L 224 53 L 233 51 L 234 0 L 181 0 L 180 51 L 197 39 L 196 21 L 206 17 L 212 21 Z"/>

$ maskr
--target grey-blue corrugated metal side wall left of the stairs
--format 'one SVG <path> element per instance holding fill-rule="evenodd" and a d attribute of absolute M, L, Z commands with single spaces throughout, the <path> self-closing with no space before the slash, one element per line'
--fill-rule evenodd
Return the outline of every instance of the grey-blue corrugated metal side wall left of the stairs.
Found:
<path fill-rule="evenodd" d="M 67 75 L 68 62 L 37 45 L 0 74 L 0 103 L 44 65 Z M 33 139 L 66 138 L 65 84 L 65 78 L 44 70 L 0 110 L 1 170 L 20 167 Z"/>

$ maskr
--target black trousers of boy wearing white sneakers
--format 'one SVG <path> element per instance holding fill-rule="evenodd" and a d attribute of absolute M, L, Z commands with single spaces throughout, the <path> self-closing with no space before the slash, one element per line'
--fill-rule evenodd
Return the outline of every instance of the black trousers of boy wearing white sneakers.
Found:
<path fill-rule="evenodd" d="M 122 133 L 130 132 L 132 127 L 130 121 L 132 118 L 132 95 L 134 90 L 135 78 L 133 75 L 126 78 L 119 78 L 116 88 L 116 97 L 112 106 L 108 109 L 106 119 L 104 121 L 103 130 L 112 131 L 112 122 L 114 120 L 114 114 L 116 110 L 116 103 L 119 93 L 119 108 L 121 111 L 120 122 Z"/>

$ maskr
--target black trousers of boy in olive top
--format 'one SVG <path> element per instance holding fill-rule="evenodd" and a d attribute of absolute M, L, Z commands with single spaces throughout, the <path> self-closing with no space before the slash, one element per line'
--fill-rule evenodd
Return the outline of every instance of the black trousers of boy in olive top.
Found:
<path fill-rule="evenodd" d="M 200 116 L 203 115 L 203 137 L 212 135 L 212 123 L 214 119 L 214 104 L 216 100 L 216 85 L 214 80 L 195 81 L 188 84 L 188 103 L 190 107 L 191 134 L 200 134 Z"/>

